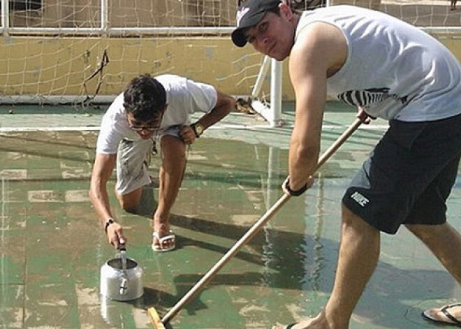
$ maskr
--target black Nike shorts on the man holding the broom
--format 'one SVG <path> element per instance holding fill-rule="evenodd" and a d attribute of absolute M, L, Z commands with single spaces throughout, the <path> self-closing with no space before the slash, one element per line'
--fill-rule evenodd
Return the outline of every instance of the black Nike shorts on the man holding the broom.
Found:
<path fill-rule="evenodd" d="M 390 234 L 401 224 L 443 224 L 460 154 L 461 115 L 433 122 L 392 120 L 342 203 Z"/>

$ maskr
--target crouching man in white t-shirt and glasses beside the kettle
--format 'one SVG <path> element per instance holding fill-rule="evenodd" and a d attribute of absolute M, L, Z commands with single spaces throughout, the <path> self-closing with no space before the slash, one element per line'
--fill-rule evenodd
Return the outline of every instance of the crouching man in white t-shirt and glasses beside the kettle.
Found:
<path fill-rule="evenodd" d="M 153 215 L 152 249 L 175 248 L 169 215 L 186 168 L 186 147 L 235 108 L 235 100 L 211 85 L 177 75 L 141 75 L 115 98 L 101 122 L 89 197 L 110 244 L 126 243 L 122 226 L 112 216 L 107 182 L 117 165 L 115 193 L 126 211 L 140 203 L 142 187 L 150 183 L 147 156 L 159 143 L 159 200 Z M 191 114 L 205 112 L 191 124 Z"/>

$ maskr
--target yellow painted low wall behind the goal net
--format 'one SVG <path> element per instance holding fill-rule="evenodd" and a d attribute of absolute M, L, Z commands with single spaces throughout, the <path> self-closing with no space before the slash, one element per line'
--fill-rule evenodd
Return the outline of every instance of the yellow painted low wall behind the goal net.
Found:
<path fill-rule="evenodd" d="M 459 38 L 439 38 L 461 59 Z M 6 37 L 0 43 L 0 94 L 85 95 L 84 83 L 101 65 L 99 94 L 122 92 L 140 73 L 175 73 L 215 85 L 233 95 L 251 94 L 262 60 L 250 47 L 233 46 L 228 36 L 207 38 L 30 38 Z M 87 82 L 96 90 L 100 75 Z M 268 83 L 265 84 L 268 91 Z M 293 89 L 284 64 L 284 100 Z"/>

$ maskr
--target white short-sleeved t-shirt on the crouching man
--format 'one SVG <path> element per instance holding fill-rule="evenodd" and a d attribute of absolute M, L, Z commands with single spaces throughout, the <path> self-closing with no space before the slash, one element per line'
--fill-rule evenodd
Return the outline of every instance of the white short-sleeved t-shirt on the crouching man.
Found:
<path fill-rule="evenodd" d="M 161 129 L 177 124 L 191 124 L 194 112 L 211 112 L 217 103 L 217 91 L 212 85 L 194 82 L 178 75 L 154 77 L 166 90 L 168 107 L 163 114 Z M 140 136 L 128 126 L 123 107 L 124 96 L 119 94 L 103 115 L 101 130 L 96 143 L 96 153 L 116 154 L 122 139 L 140 140 Z"/>

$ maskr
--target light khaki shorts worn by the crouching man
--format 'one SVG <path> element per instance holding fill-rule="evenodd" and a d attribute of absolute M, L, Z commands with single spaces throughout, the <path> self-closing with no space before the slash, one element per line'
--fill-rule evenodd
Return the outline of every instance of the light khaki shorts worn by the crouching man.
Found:
<path fill-rule="evenodd" d="M 117 151 L 117 193 L 123 195 L 150 184 L 149 157 L 160 145 L 163 136 L 180 138 L 180 126 L 171 126 L 159 131 L 157 136 L 147 140 L 122 140 Z M 156 145 L 159 144 L 159 145 Z M 161 149 L 160 149 L 161 152 Z"/>

